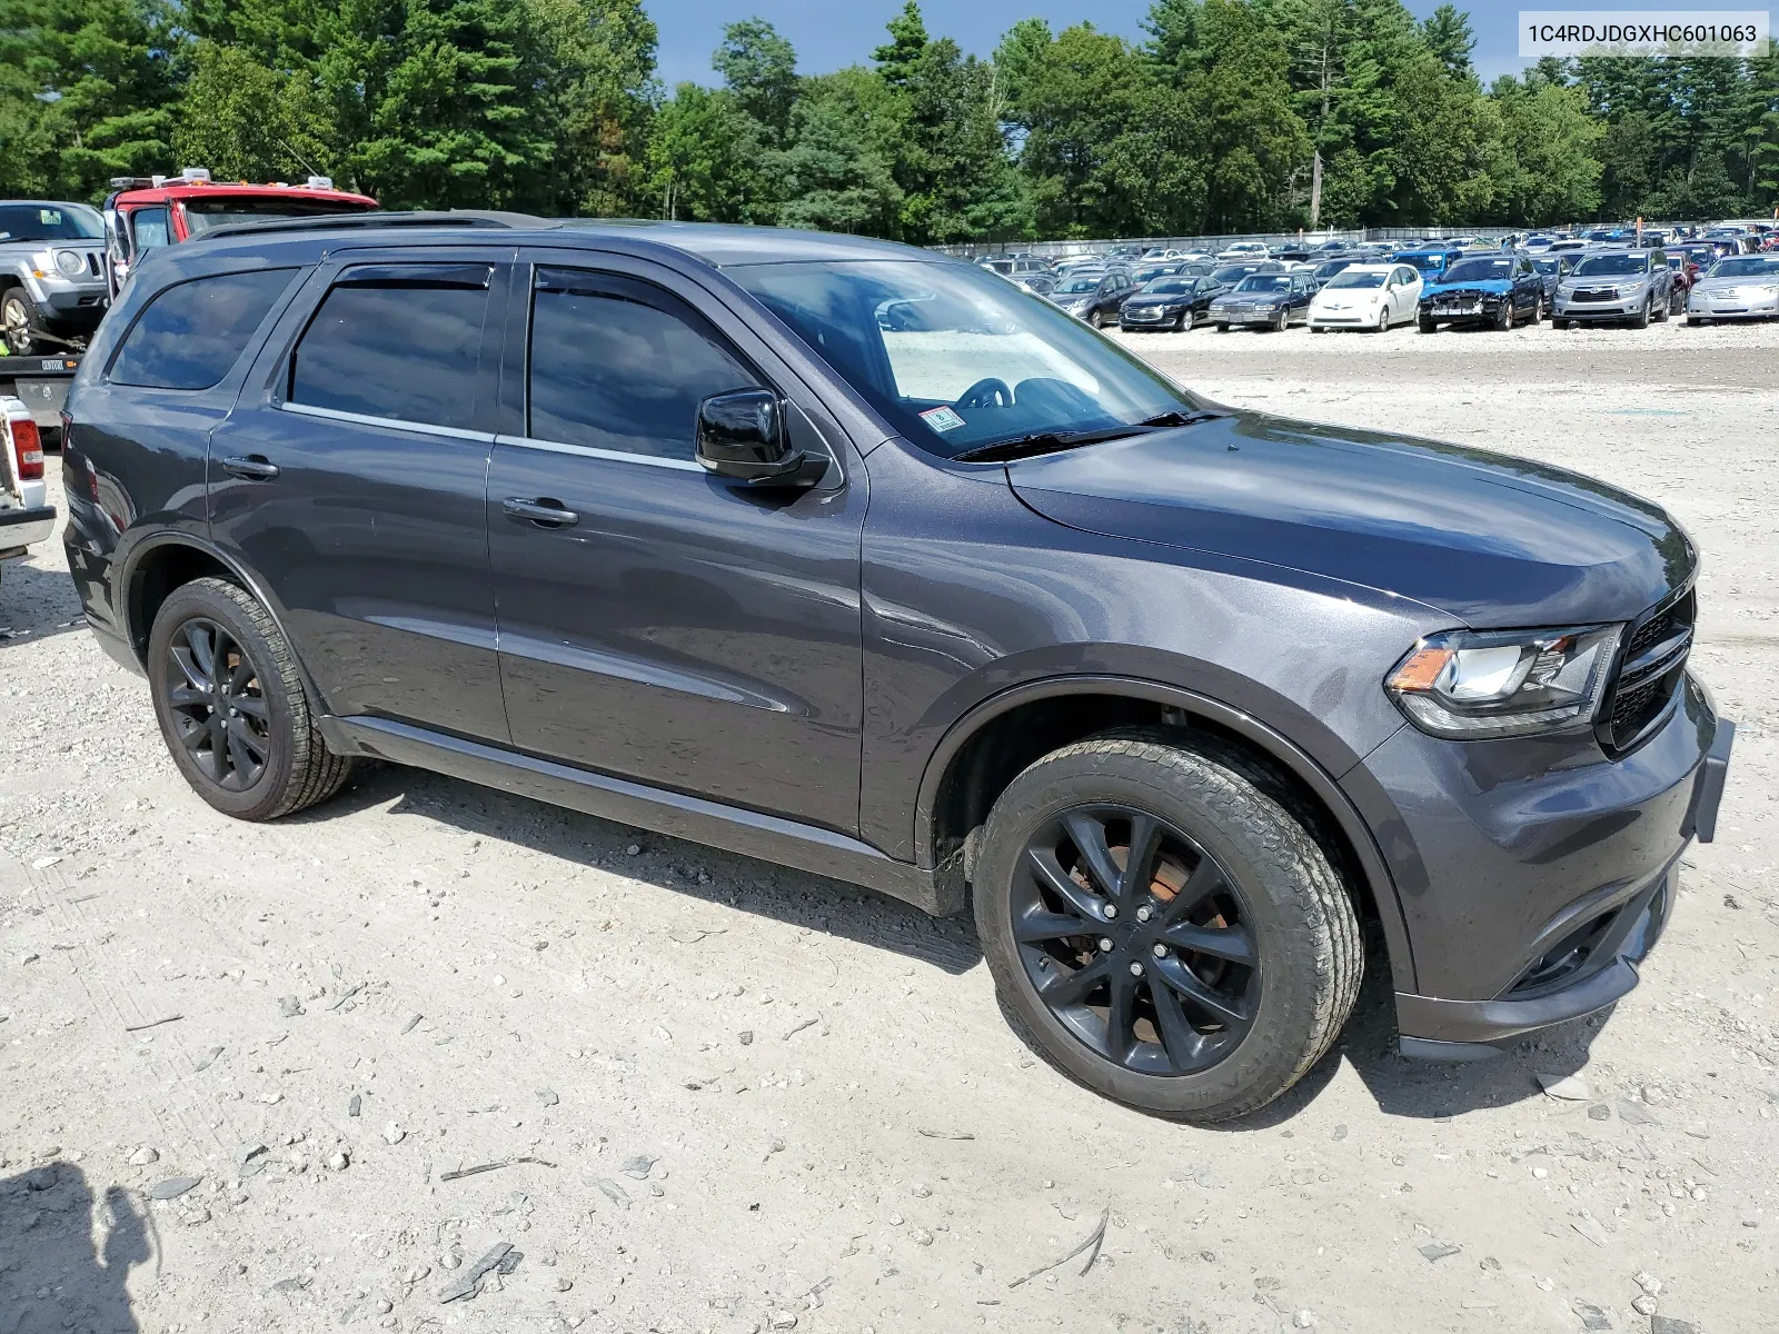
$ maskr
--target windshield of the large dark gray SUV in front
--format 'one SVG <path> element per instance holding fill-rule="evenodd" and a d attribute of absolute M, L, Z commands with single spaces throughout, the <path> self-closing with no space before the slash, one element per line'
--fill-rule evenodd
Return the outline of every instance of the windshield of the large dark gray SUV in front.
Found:
<path fill-rule="evenodd" d="M 897 430 L 932 454 L 1115 430 L 1197 411 L 1142 361 L 973 265 L 761 263 L 726 270 Z M 884 306 L 918 304 L 884 329 Z"/>

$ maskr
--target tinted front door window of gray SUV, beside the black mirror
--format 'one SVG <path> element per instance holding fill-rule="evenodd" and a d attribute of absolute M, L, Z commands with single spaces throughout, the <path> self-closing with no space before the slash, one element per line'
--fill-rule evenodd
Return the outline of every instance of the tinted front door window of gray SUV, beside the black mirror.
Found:
<path fill-rule="evenodd" d="M 646 283 L 573 269 L 537 272 L 534 438 L 690 459 L 697 404 L 758 382 L 715 331 Z"/>

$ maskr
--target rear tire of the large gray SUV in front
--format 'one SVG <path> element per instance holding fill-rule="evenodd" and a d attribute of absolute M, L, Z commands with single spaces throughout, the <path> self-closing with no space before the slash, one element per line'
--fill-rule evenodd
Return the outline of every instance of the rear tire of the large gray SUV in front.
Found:
<path fill-rule="evenodd" d="M 219 695 L 201 688 L 222 679 L 221 672 L 203 667 L 205 655 L 196 647 L 203 642 L 208 642 L 212 662 L 222 649 L 222 662 L 237 663 L 226 685 L 238 681 L 238 690 Z M 190 669 L 181 667 L 181 656 Z M 276 820 L 327 800 L 352 774 L 352 759 L 329 754 L 315 727 L 295 655 L 278 623 L 246 589 L 228 580 L 192 580 L 160 605 L 148 637 L 148 681 L 173 763 L 192 790 L 224 815 Z M 233 720 L 238 740 L 224 745 L 226 756 L 219 761 L 215 740 L 229 735 L 219 733 L 217 706 L 205 699 L 224 697 L 231 711 L 222 727 Z M 251 765 L 254 747 L 262 756 L 256 772 Z M 219 770 L 226 772 L 219 777 Z"/>

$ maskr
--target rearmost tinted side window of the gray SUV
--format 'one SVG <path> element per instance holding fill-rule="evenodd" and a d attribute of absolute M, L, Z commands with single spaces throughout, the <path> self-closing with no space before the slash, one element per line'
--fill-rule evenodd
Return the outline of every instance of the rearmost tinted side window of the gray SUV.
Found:
<path fill-rule="evenodd" d="M 290 286 L 295 269 L 217 274 L 169 286 L 148 302 L 112 361 L 112 384 L 208 390 Z"/>

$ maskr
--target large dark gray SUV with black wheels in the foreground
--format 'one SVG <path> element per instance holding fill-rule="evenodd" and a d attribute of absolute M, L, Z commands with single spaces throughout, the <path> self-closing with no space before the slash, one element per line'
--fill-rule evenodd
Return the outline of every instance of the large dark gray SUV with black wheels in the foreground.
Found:
<path fill-rule="evenodd" d="M 68 411 L 87 623 L 217 809 L 375 758 L 970 911 L 1025 1039 L 1162 1115 L 1302 1076 L 1366 932 L 1409 1055 L 1610 1005 L 1717 820 L 1662 509 L 1219 407 L 925 251 L 217 231 Z"/>

